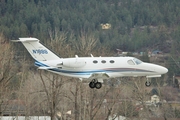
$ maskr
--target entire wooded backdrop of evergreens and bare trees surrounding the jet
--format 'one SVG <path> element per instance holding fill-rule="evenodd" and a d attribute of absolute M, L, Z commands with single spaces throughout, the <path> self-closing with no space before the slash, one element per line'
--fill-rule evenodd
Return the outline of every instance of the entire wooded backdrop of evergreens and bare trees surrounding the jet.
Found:
<path fill-rule="evenodd" d="M 62 58 L 159 50 L 136 57 L 169 71 L 152 78 L 151 87 L 143 77 L 123 77 L 92 90 L 79 79 L 37 70 L 23 45 L 9 42 L 20 37 L 38 38 Z M 179 119 L 179 46 L 180 0 L 0 0 L 0 115 Z M 147 105 L 155 94 L 160 103 Z"/>

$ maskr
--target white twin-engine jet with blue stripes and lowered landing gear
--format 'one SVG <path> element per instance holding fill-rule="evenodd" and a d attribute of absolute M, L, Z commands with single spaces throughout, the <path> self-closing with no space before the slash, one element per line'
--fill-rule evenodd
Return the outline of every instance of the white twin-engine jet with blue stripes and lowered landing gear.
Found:
<path fill-rule="evenodd" d="M 89 80 L 90 88 L 100 89 L 103 79 L 125 76 L 146 76 L 146 86 L 150 86 L 148 78 L 161 77 L 168 69 L 159 65 L 145 63 L 134 57 L 78 57 L 60 58 L 39 43 L 36 38 L 19 38 L 13 42 L 22 42 L 35 59 L 38 69 L 47 70 L 60 75 Z"/>

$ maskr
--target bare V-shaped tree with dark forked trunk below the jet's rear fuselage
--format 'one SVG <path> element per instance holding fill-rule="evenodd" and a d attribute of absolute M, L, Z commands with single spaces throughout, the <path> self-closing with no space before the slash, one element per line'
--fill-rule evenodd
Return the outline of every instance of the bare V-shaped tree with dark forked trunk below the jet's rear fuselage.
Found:
<path fill-rule="evenodd" d="M 55 74 L 42 74 L 40 71 L 40 78 L 43 83 L 44 92 L 46 94 L 46 100 L 48 104 L 48 109 L 50 110 L 51 120 L 55 120 L 58 105 L 61 101 L 60 97 L 63 97 L 63 85 L 65 84 L 65 80 L 62 79 L 61 76 Z"/>

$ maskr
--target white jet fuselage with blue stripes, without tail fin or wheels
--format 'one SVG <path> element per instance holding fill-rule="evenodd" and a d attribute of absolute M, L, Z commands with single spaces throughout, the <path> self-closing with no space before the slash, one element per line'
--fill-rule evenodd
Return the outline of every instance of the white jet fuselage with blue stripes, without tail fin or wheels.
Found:
<path fill-rule="evenodd" d="M 77 57 L 40 61 L 35 62 L 35 65 L 52 67 L 48 69 L 50 72 L 77 78 L 89 78 L 93 73 L 106 73 L 109 78 L 123 76 L 153 77 L 168 71 L 165 67 L 145 63 L 134 57 Z"/>

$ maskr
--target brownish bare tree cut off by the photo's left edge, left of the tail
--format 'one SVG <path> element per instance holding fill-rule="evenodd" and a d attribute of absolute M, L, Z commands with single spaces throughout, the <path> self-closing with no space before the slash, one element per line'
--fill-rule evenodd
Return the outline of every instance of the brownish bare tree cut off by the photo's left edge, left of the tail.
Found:
<path fill-rule="evenodd" d="M 8 40 L 0 34 L 0 111 L 2 112 L 1 105 L 4 104 L 6 99 L 10 97 L 11 79 L 14 76 L 13 50 Z"/>

